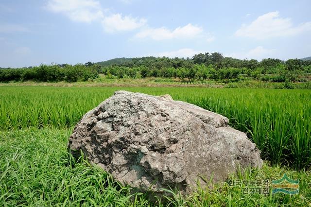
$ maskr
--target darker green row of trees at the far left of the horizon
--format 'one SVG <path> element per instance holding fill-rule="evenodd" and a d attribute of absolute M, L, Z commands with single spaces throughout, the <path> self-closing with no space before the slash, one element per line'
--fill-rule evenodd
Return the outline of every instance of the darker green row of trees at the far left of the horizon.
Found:
<path fill-rule="evenodd" d="M 0 69 L 0 81 L 77 82 L 98 77 L 101 67 L 93 64 L 40 65 L 22 69 Z"/>

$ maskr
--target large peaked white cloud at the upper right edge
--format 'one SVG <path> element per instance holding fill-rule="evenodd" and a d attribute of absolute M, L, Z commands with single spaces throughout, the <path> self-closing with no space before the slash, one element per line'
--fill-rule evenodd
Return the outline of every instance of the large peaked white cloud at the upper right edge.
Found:
<path fill-rule="evenodd" d="M 291 18 L 279 17 L 279 12 L 269 12 L 259 16 L 249 25 L 242 27 L 235 33 L 237 36 L 264 39 L 270 37 L 298 35 L 311 30 L 311 22 L 293 26 Z"/>

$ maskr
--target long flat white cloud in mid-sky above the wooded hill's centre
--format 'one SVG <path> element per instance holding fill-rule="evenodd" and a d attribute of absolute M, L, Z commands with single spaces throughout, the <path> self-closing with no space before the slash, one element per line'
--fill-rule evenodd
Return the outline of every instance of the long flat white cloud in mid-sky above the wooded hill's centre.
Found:
<path fill-rule="evenodd" d="M 177 27 L 169 30 L 165 27 L 146 28 L 135 35 L 136 38 L 151 38 L 154 40 L 173 39 L 173 38 L 194 38 L 203 33 L 202 27 L 187 24 L 183 27 Z"/>

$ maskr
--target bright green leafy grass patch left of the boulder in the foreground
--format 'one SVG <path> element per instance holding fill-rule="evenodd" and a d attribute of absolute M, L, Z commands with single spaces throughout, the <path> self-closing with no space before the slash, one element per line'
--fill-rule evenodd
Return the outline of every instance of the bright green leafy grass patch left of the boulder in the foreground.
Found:
<path fill-rule="evenodd" d="M 129 188 L 67 151 L 71 130 L 0 132 L 0 206 L 143 206 Z M 138 196 L 139 194 L 133 195 Z"/>

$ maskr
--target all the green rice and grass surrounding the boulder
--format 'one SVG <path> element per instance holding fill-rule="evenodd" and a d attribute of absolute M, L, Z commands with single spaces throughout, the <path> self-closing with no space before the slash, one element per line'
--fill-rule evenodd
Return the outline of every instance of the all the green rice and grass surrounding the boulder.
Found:
<path fill-rule="evenodd" d="M 265 160 L 243 179 L 300 180 L 297 195 L 242 194 L 226 184 L 178 193 L 166 203 L 130 194 L 85 160 L 74 160 L 67 141 L 74 125 L 116 90 L 196 104 L 229 118 L 247 133 Z M 0 86 L 0 206 L 309 206 L 311 205 L 311 90 L 200 87 Z"/>

